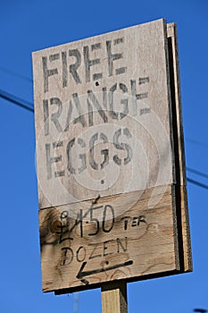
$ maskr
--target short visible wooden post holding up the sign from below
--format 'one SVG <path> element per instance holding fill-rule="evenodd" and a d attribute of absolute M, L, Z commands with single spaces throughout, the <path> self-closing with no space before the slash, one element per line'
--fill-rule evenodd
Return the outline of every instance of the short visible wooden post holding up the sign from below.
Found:
<path fill-rule="evenodd" d="M 127 283 L 105 283 L 102 287 L 102 313 L 127 313 Z"/>

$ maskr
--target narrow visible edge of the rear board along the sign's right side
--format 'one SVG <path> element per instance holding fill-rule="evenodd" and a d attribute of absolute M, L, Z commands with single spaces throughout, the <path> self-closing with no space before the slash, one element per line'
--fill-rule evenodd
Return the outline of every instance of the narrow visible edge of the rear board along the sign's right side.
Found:
<path fill-rule="evenodd" d="M 184 148 L 182 106 L 179 80 L 179 48 L 176 23 L 167 25 L 170 88 L 171 88 L 171 115 L 173 137 L 173 149 L 175 156 L 176 183 L 175 199 L 177 207 L 177 224 L 179 232 L 179 262 L 181 272 L 192 271 L 191 242 L 189 218 L 187 209 L 187 177 L 186 159 Z"/>

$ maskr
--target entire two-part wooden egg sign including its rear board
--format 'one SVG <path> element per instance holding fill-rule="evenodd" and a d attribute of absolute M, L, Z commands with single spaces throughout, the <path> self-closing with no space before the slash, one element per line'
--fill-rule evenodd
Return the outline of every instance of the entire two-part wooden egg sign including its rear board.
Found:
<path fill-rule="evenodd" d="M 33 53 L 43 291 L 191 270 L 174 24 Z"/>

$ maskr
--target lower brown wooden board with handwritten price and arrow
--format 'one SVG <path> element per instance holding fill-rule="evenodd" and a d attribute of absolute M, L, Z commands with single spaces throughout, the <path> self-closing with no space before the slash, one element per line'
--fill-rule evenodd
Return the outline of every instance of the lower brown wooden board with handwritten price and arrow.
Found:
<path fill-rule="evenodd" d="M 171 186 L 39 211 L 43 291 L 179 270 Z"/>

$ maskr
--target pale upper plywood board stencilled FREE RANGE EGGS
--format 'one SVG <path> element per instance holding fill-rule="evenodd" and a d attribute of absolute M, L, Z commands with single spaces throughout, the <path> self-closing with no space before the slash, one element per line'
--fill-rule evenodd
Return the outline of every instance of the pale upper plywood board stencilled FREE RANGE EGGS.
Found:
<path fill-rule="evenodd" d="M 171 184 L 166 40 L 159 20 L 33 54 L 40 208 Z"/>

